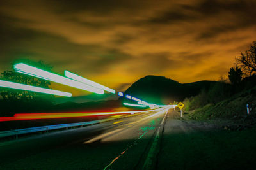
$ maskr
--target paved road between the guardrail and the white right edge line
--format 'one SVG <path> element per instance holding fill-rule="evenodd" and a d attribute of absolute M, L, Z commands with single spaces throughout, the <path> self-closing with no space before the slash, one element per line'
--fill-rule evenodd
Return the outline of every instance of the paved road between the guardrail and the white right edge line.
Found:
<path fill-rule="evenodd" d="M 0 143 L 0 169 L 142 169 L 151 166 L 168 108 Z"/>

